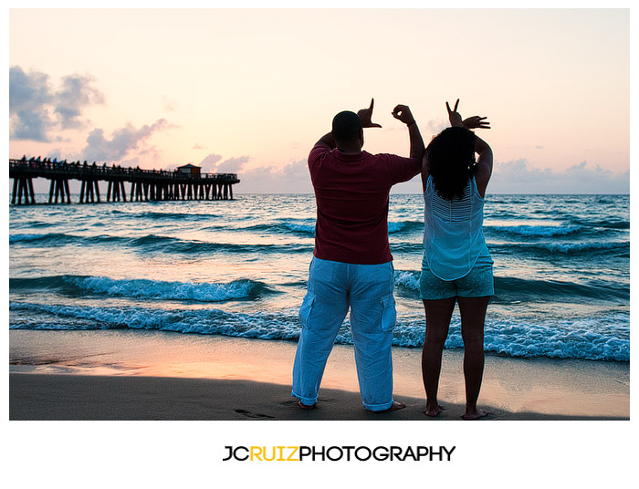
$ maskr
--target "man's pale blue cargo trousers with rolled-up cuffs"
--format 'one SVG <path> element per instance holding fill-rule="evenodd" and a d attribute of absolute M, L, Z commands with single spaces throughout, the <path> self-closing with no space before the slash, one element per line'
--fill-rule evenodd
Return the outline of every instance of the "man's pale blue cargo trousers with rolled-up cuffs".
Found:
<path fill-rule="evenodd" d="M 292 395 L 307 405 L 318 401 L 324 367 L 349 307 L 361 401 L 369 411 L 383 411 L 393 404 L 393 262 L 353 265 L 313 257 L 299 309 Z"/>

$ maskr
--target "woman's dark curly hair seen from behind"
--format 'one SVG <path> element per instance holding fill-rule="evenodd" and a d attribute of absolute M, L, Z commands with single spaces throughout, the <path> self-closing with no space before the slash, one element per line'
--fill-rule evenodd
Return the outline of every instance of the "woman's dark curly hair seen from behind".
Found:
<path fill-rule="evenodd" d="M 468 179 L 477 170 L 475 141 L 472 130 L 447 128 L 437 134 L 426 148 L 428 172 L 433 177 L 435 192 L 443 199 L 461 199 Z"/>

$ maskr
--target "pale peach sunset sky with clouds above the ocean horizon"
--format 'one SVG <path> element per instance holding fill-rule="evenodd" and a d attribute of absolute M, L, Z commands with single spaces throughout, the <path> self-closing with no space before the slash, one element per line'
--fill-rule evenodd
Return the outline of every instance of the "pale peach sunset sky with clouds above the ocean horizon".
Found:
<path fill-rule="evenodd" d="M 237 172 L 236 193 L 312 192 L 343 109 L 407 156 L 445 102 L 487 116 L 488 192 L 630 192 L 629 9 L 12 9 L 9 155 Z M 42 188 L 46 191 L 44 182 Z M 420 192 L 419 178 L 395 192 Z"/>

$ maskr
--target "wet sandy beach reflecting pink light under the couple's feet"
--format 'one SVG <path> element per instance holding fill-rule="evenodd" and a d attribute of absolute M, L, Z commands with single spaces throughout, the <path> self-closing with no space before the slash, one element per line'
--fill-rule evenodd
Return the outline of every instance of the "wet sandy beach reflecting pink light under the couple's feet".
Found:
<path fill-rule="evenodd" d="M 406 409 L 361 407 L 352 349 L 333 350 L 318 408 L 290 397 L 295 342 L 124 331 L 10 332 L 10 420 L 458 421 L 463 352 L 446 350 L 445 411 L 424 416 L 419 349 L 393 349 L 394 397 Z M 485 421 L 628 420 L 627 363 L 487 356 Z"/>

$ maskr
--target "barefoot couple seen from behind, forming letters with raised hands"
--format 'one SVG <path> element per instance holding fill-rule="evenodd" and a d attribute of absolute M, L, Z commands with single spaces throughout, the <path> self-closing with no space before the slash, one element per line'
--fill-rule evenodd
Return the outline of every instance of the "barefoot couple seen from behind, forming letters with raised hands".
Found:
<path fill-rule="evenodd" d="M 396 312 L 387 219 L 391 187 L 421 172 L 425 414 L 436 416 L 442 410 L 437 402 L 442 350 L 457 303 L 465 349 L 464 418 L 486 416 L 477 409 L 477 397 L 484 369 L 484 320 L 494 293 L 493 262 L 482 231 L 492 151 L 471 130 L 488 128 L 486 118 L 462 120 L 458 102 L 452 110 L 446 102 L 452 127 L 438 134 L 427 148 L 411 110 L 405 105 L 393 109 L 393 117 L 408 128 L 409 158 L 361 150 L 363 129 L 382 127 L 372 122 L 373 100 L 368 109 L 337 114 L 332 130 L 310 151 L 317 223 L 293 365 L 292 395 L 300 408 L 316 406 L 326 361 L 349 308 L 364 408 L 388 412 L 405 407 L 393 401 L 391 345 Z"/>

